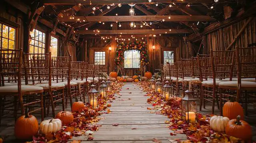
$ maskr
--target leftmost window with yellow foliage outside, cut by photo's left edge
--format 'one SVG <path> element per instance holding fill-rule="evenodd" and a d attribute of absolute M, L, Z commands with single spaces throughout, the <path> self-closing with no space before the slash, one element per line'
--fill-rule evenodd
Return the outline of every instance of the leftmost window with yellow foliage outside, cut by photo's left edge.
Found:
<path fill-rule="evenodd" d="M 15 29 L 13 27 L 0 24 L 0 48 L 15 49 Z"/>

